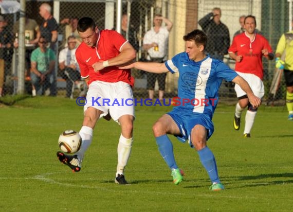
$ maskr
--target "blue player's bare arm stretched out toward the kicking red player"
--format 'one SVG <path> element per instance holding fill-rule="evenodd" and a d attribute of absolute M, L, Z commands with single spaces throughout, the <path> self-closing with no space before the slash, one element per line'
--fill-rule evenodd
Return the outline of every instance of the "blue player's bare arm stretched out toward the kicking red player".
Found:
<path fill-rule="evenodd" d="M 137 68 L 140 70 L 144 70 L 145 72 L 151 72 L 156 74 L 169 72 L 168 68 L 164 63 L 155 63 L 155 62 L 135 62 L 127 66 L 119 67 L 121 69 L 128 68 Z"/>

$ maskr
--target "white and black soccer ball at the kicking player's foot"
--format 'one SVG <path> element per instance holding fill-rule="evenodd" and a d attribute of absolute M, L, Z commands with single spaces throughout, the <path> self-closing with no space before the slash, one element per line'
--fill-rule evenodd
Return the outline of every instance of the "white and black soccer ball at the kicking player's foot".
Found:
<path fill-rule="evenodd" d="M 75 153 L 80 149 L 82 139 L 78 132 L 65 130 L 59 136 L 58 146 L 65 153 Z"/>

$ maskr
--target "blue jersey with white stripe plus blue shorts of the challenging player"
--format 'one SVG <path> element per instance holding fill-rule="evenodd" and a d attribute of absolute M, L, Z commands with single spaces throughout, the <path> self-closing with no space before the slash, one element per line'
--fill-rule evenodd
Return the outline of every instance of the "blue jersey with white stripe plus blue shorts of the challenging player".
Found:
<path fill-rule="evenodd" d="M 179 73 L 178 97 L 173 98 L 177 105 L 168 113 L 176 122 L 181 142 L 189 140 L 194 126 L 207 129 L 207 140 L 214 132 L 212 117 L 218 103 L 218 90 L 223 79 L 232 81 L 236 72 L 222 61 L 207 56 L 202 61 L 192 61 L 186 52 L 165 62 L 172 74 Z"/>

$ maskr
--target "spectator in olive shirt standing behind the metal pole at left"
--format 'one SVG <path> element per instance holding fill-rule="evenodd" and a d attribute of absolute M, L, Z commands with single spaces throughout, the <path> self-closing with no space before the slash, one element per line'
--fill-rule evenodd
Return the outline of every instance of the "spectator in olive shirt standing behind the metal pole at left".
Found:
<path fill-rule="evenodd" d="M 13 25 L 13 34 L 15 35 L 13 46 L 14 48 L 19 47 L 19 29 L 20 29 L 20 20 L 16 21 Z M 25 76 L 30 76 L 30 57 L 31 52 L 34 50 L 35 45 L 38 44 L 38 41 L 41 37 L 40 27 L 35 20 L 29 19 L 28 16 L 25 17 L 25 34 L 29 34 L 29 42 L 26 43 L 25 49 L 25 58 L 26 58 L 26 74 Z"/>

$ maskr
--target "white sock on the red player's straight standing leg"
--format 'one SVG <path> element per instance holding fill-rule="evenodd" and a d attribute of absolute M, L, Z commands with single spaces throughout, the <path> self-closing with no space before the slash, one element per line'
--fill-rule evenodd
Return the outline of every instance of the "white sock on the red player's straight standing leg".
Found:
<path fill-rule="evenodd" d="M 132 143 L 133 143 L 133 137 L 125 138 L 123 137 L 122 134 L 120 135 L 119 144 L 117 148 L 118 165 L 117 165 L 116 176 L 118 176 L 118 174 L 123 174 L 124 168 L 127 165 L 127 161 L 130 157 Z"/>

